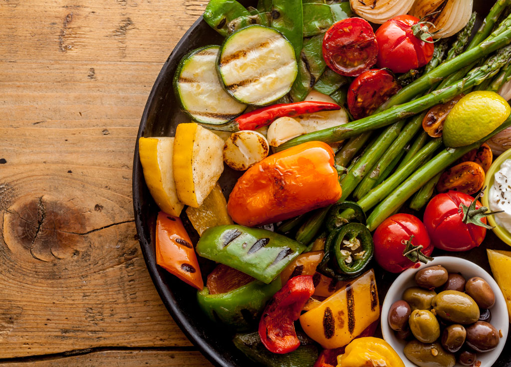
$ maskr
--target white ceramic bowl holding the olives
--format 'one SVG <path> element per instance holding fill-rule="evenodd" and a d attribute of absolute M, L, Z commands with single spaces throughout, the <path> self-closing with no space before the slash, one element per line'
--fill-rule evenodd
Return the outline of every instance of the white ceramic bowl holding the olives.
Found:
<path fill-rule="evenodd" d="M 491 367 L 504 349 L 504 344 L 507 338 L 509 318 L 507 316 L 506 302 L 499 286 L 490 274 L 488 274 L 480 266 L 472 263 L 472 261 L 459 257 L 438 256 L 428 264 L 421 264 L 419 268 L 405 270 L 397 277 L 397 279 L 390 286 L 390 289 L 388 290 L 382 305 L 381 325 L 383 338 L 387 341 L 388 344 L 392 346 L 394 350 L 396 350 L 396 352 L 405 363 L 406 367 L 416 367 L 416 364 L 410 362 L 408 358 L 405 357 L 403 349 L 406 345 L 406 342 L 403 342 L 403 340 L 398 339 L 396 335 L 394 335 L 394 331 L 388 326 L 387 316 L 388 311 L 390 310 L 390 306 L 392 306 L 394 302 L 402 299 L 403 292 L 409 287 L 416 286 L 415 273 L 420 269 L 427 268 L 432 265 L 442 265 L 449 272 L 461 273 L 465 279 L 469 279 L 473 276 L 481 277 L 486 280 L 492 287 L 492 290 L 495 293 L 495 305 L 490 309 L 492 311 L 491 324 L 495 326 L 497 330 L 502 332 L 502 337 L 500 338 L 499 345 L 493 351 L 477 353 L 477 360 L 481 361 L 480 367 Z M 462 365 L 456 363 L 455 367 L 462 367 Z"/>

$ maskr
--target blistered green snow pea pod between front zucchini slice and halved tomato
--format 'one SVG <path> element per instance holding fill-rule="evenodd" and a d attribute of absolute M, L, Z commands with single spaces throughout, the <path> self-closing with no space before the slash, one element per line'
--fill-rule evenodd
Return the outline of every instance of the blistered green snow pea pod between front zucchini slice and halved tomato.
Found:
<path fill-rule="evenodd" d="M 327 64 L 323 59 L 323 35 L 307 38 L 298 59 L 298 76 L 291 87 L 291 101 L 302 101 L 312 90 Z"/>

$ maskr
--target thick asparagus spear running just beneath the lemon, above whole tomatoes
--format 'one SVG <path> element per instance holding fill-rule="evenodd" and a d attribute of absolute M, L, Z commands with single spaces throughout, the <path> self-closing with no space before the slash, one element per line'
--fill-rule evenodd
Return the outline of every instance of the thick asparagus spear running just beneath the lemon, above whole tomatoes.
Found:
<path fill-rule="evenodd" d="M 392 191 L 392 193 L 385 198 L 369 215 L 367 218 L 367 228 L 373 231 L 380 225 L 381 222 L 388 218 L 396 208 L 408 200 L 415 192 L 417 192 L 425 183 L 433 178 L 438 172 L 443 171 L 451 164 L 456 162 L 459 158 L 471 151 L 478 148 L 486 140 L 492 138 L 495 134 L 501 132 L 503 129 L 511 126 L 511 116 L 500 127 L 495 129 L 492 133 L 485 136 L 481 140 L 459 148 L 446 148 L 438 153 L 427 164 L 415 171 L 410 177 L 406 179 L 401 185 Z"/>

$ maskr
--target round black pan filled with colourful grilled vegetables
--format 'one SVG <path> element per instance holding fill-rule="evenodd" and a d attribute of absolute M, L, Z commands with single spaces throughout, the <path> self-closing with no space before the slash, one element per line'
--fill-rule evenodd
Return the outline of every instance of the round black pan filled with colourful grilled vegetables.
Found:
<path fill-rule="evenodd" d="M 211 0 L 135 148 L 161 298 L 221 366 L 480 366 L 502 349 L 511 366 L 492 324 L 496 294 L 511 320 L 511 244 L 487 222 L 511 232 L 511 160 L 484 186 L 511 147 L 509 90 L 511 0 Z M 427 265 L 439 255 L 498 287 Z"/>

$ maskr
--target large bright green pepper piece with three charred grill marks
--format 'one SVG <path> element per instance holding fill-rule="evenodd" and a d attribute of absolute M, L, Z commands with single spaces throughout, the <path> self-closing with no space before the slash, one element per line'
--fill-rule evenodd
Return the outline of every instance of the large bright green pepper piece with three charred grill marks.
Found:
<path fill-rule="evenodd" d="M 266 229 L 230 224 L 206 229 L 197 254 L 269 283 L 305 246 Z"/>

